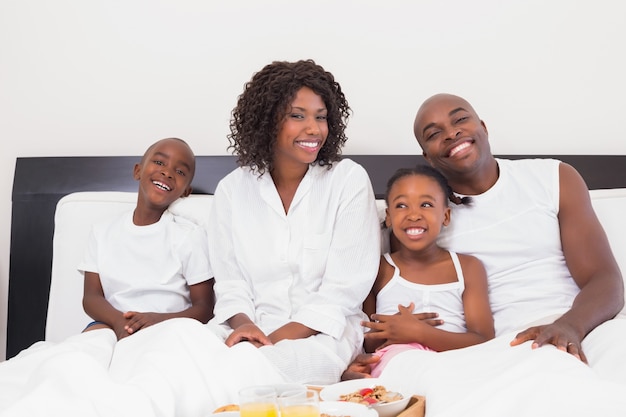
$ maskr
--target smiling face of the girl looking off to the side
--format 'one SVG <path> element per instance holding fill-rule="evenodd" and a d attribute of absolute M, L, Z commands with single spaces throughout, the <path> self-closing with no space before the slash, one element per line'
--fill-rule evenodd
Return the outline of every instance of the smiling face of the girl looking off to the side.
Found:
<path fill-rule="evenodd" d="M 441 228 L 450 222 L 447 196 L 433 178 L 402 177 L 389 190 L 388 200 L 385 224 L 409 249 L 419 250 L 435 243 Z"/>

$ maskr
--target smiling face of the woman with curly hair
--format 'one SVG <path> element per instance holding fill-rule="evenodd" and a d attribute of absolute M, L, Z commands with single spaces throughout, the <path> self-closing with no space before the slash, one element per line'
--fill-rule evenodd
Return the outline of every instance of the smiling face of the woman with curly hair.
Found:
<path fill-rule="evenodd" d="M 278 131 L 274 166 L 315 162 L 328 137 L 326 117 L 326 105 L 319 95 L 308 87 L 298 90 Z"/>

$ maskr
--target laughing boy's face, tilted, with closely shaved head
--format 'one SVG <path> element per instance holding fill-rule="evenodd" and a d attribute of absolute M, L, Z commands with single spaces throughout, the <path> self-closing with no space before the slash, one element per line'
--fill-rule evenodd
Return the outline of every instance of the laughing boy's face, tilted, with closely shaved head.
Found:
<path fill-rule="evenodd" d="M 133 176 L 139 181 L 139 200 L 167 209 L 191 193 L 194 172 L 195 158 L 187 144 L 176 139 L 160 140 L 135 165 Z"/>

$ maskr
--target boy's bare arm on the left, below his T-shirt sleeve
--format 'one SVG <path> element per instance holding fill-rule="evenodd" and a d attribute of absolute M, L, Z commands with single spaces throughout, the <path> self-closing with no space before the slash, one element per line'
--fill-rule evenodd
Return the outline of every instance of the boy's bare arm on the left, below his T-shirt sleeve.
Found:
<path fill-rule="evenodd" d="M 128 333 L 124 331 L 126 319 L 124 319 L 123 313 L 115 309 L 106 298 L 104 298 L 100 275 L 96 272 L 85 271 L 83 309 L 89 317 L 105 323 L 113 329 L 118 339 L 128 335 Z"/>

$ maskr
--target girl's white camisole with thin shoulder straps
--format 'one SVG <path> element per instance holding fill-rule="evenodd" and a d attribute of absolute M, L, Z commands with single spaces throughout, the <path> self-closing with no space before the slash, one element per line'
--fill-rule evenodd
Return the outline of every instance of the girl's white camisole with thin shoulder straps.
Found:
<path fill-rule="evenodd" d="M 378 292 L 376 296 L 376 312 L 378 314 L 396 314 L 398 304 L 408 306 L 415 304 L 414 313 L 436 312 L 443 324 L 438 329 L 449 332 L 463 333 L 465 327 L 465 313 L 463 310 L 463 291 L 465 279 L 459 257 L 455 252 L 450 252 L 457 281 L 446 284 L 417 284 L 407 281 L 400 276 L 400 269 L 386 253 L 385 260 L 394 267 L 393 277 Z"/>

